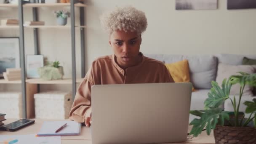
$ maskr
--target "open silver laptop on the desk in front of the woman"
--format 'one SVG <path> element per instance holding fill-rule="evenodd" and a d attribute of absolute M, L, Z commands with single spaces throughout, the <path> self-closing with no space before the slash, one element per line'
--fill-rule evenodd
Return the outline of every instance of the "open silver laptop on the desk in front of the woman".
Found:
<path fill-rule="evenodd" d="M 94 85 L 93 144 L 187 140 L 191 83 Z"/>

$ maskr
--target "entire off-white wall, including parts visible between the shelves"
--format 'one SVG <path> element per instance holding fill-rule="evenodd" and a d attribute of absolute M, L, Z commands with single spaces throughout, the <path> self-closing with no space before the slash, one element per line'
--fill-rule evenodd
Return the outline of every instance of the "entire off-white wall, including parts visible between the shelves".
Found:
<path fill-rule="evenodd" d="M 256 9 L 227 10 L 227 0 L 219 0 L 217 10 L 183 11 L 175 10 L 175 0 L 86 0 L 86 4 L 88 5 L 85 13 L 88 27 L 86 69 L 96 57 L 112 53 L 108 45 L 108 35 L 101 29 L 99 16 L 103 11 L 123 5 L 133 5 L 144 11 L 147 16 L 148 28 L 142 35 L 141 45 L 141 51 L 144 53 L 256 55 Z M 39 8 L 40 20 L 45 21 L 46 24 L 56 24 L 53 10 L 56 8 Z M 24 13 L 24 21 L 32 20 L 32 8 L 24 8 Z M 0 19 L 10 17 L 17 18 L 16 8 L 0 8 Z M 18 30 L 0 29 L 0 37 L 18 35 Z M 79 36 L 80 31 L 77 29 L 78 77 L 80 76 Z M 39 37 L 41 54 L 51 61 L 59 60 L 64 66 L 65 77 L 71 77 L 70 30 L 40 29 Z M 25 29 L 26 54 L 33 54 L 33 47 L 33 31 Z M 54 89 L 54 87 L 42 87 L 43 90 L 48 88 Z"/>

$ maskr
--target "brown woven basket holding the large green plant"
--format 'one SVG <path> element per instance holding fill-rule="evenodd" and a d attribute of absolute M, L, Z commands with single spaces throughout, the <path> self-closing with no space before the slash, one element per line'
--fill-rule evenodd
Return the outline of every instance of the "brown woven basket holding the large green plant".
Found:
<path fill-rule="evenodd" d="M 216 125 L 216 144 L 256 144 L 256 128 Z"/>

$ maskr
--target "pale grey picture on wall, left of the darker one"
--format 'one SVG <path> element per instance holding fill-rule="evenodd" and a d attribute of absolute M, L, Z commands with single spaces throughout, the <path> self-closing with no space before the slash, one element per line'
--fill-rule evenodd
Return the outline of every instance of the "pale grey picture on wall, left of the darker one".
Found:
<path fill-rule="evenodd" d="M 176 10 L 217 9 L 218 0 L 176 0 Z"/>

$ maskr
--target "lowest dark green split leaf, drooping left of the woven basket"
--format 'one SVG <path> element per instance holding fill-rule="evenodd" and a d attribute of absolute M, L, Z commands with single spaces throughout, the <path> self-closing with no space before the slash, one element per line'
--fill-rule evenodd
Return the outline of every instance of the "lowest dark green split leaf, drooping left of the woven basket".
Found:
<path fill-rule="evenodd" d="M 192 130 L 189 134 L 193 134 L 194 136 L 198 136 L 203 128 L 206 127 L 206 132 L 208 135 L 211 133 L 211 129 L 214 129 L 216 124 L 221 117 L 223 120 L 229 120 L 228 112 L 224 112 L 222 108 L 213 108 L 207 110 L 201 110 L 202 114 L 200 114 L 200 119 L 194 119 L 189 125 L 193 125 Z M 193 111 L 195 113 L 195 111 Z M 192 113 L 191 113 L 192 114 Z M 196 113 L 198 114 L 198 113 Z"/>

